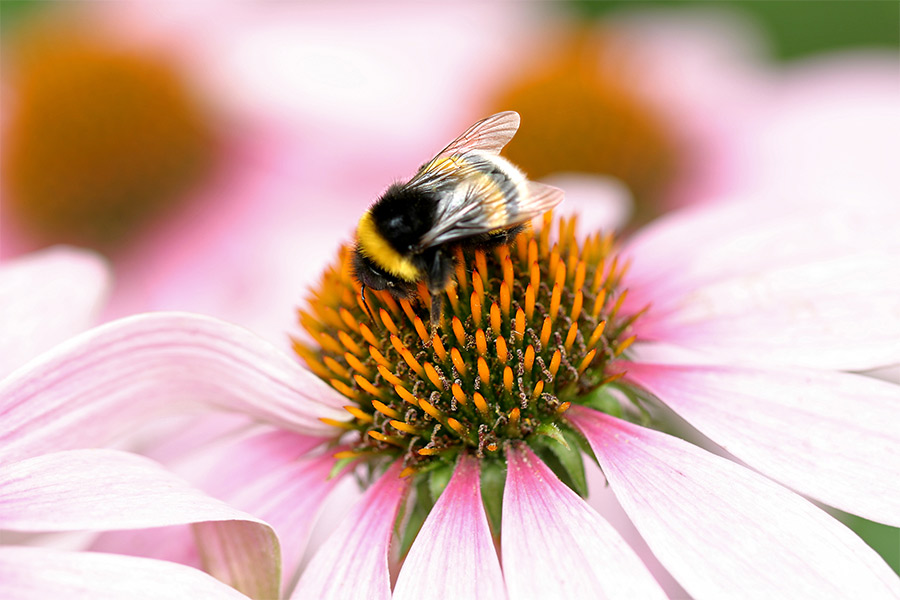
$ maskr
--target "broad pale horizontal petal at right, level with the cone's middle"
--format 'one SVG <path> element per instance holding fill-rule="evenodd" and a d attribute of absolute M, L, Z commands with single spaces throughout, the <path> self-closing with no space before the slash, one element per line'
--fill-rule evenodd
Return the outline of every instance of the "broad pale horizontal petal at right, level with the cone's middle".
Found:
<path fill-rule="evenodd" d="M 648 313 L 636 332 L 728 357 L 860 370 L 900 360 L 900 254 L 870 252 L 738 274 Z"/>

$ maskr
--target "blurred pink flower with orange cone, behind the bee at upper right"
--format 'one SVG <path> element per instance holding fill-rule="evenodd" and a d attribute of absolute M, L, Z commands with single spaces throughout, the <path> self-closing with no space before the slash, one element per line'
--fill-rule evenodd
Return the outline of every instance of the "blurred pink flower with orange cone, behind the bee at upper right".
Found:
<path fill-rule="evenodd" d="M 618 177 L 642 220 L 736 198 L 871 205 L 900 192 L 896 53 L 775 64 L 761 32 L 723 7 L 539 23 L 520 32 L 520 61 L 498 71 L 487 109 L 531 124 L 509 156 L 532 174 Z"/>

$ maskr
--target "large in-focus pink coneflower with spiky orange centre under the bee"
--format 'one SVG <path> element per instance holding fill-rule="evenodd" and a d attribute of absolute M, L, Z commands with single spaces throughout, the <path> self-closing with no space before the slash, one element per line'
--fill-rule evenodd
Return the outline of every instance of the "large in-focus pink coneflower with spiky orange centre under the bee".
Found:
<path fill-rule="evenodd" d="M 242 415 L 236 443 L 180 442 L 206 455 L 201 486 L 278 532 L 295 598 L 662 597 L 582 499 L 594 459 L 692 596 L 896 597 L 882 559 L 801 496 L 900 524 L 900 388 L 844 371 L 900 358 L 893 222 L 723 206 L 620 245 L 547 218 L 459 257 L 435 336 L 427 294 L 368 292 L 370 319 L 345 250 L 301 312 L 310 370 L 223 322 L 123 319 L 3 381 L 0 453 Z M 746 466 L 660 431 L 662 404 Z M 349 473 L 368 489 L 293 585 Z"/>

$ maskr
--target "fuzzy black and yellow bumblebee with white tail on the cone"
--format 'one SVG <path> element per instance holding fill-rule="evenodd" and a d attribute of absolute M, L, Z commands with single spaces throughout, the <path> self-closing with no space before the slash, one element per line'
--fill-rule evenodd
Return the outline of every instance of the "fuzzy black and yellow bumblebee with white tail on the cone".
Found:
<path fill-rule="evenodd" d="M 562 190 L 528 181 L 500 156 L 518 128 L 513 111 L 478 121 L 363 214 L 353 271 L 367 309 L 366 288 L 408 298 L 424 281 L 435 331 L 440 294 L 456 268 L 455 249 L 510 242 L 528 221 L 562 201 Z"/>

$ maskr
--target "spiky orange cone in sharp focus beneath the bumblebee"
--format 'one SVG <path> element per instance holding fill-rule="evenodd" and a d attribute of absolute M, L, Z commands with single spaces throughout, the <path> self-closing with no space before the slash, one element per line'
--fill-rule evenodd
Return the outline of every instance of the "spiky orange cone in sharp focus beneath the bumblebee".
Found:
<path fill-rule="evenodd" d="M 617 378 L 607 365 L 633 338 L 620 316 L 627 268 L 613 238 L 579 246 L 575 219 L 552 218 L 509 246 L 456 250 L 438 331 L 431 298 L 397 300 L 367 290 L 360 299 L 344 247 L 300 311 L 315 343 L 295 342 L 316 374 L 348 399 L 353 419 L 328 423 L 355 432 L 342 457 L 403 456 L 406 473 L 455 460 L 463 449 L 502 456 L 507 440 L 555 436 L 571 403 Z"/>

